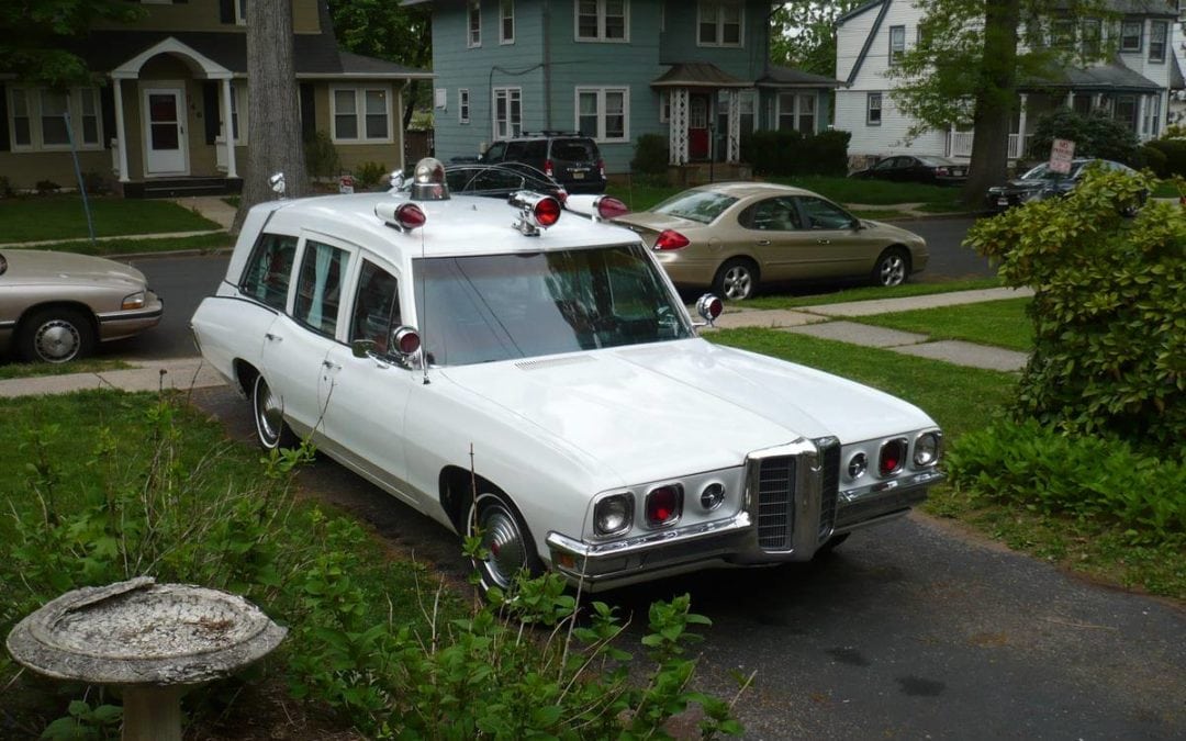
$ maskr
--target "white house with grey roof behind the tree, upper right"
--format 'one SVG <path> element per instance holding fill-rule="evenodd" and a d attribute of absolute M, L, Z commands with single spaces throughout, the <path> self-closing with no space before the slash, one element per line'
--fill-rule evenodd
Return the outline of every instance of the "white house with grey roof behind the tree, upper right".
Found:
<path fill-rule="evenodd" d="M 1168 94 L 1177 76 L 1172 33 L 1178 19 L 1174 0 L 1110 0 L 1117 20 L 1056 19 L 1041 30 L 1019 28 L 1022 41 L 1073 45 L 1098 56 L 1102 44 L 1115 44 L 1107 62 L 1066 66 L 1051 79 L 1019 85 L 1020 106 L 1009 135 L 1009 158 L 1025 152 L 1026 139 L 1042 113 L 1071 107 L 1080 113 L 1104 111 L 1133 127 L 1139 139 L 1156 138 L 1166 124 Z M 888 76 L 894 60 L 918 40 L 923 11 L 913 0 L 871 0 L 836 21 L 835 127 L 852 132 L 848 152 L 854 161 L 911 152 L 967 160 L 971 130 L 951 127 L 910 139 L 916 120 L 894 106 Z"/>

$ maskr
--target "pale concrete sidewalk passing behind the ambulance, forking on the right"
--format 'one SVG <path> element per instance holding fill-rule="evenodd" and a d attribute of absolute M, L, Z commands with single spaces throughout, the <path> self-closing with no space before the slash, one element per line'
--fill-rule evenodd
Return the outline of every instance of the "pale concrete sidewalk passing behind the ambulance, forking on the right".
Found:
<path fill-rule="evenodd" d="M 827 304 L 795 311 L 753 309 L 729 307 L 716 321 L 718 330 L 761 327 L 797 332 L 824 339 L 850 343 L 861 347 L 892 350 L 904 354 L 945 360 L 968 368 L 996 371 L 1019 371 L 1027 356 L 1022 352 L 988 347 L 961 341 L 930 341 L 924 334 L 899 332 L 844 321 L 844 317 L 863 317 L 888 312 L 956 306 L 982 301 L 999 301 L 1029 295 L 1028 292 L 994 288 L 932 294 L 906 299 L 884 299 L 852 304 Z M 834 318 L 840 318 L 834 320 Z M 703 330 L 712 332 L 713 330 Z M 168 360 L 127 360 L 133 368 L 64 376 L 37 376 L 0 381 L 0 397 L 69 394 L 87 389 L 121 389 L 125 391 L 155 391 L 166 389 L 198 389 L 222 385 L 225 381 L 202 358 Z"/>

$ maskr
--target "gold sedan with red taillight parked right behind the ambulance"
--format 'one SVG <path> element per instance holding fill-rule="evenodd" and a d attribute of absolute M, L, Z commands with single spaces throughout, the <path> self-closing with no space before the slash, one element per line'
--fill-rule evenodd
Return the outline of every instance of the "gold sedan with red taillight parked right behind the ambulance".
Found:
<path fill-rule="evenodd" d="M 862 277 L 898 286 L 929 258 L 926 241 L 911 231 L 769 183 L 702 185 L 614 221 L 655 250 L 677 286 L 710 286 L 732 301 L 776 281 Z"/>

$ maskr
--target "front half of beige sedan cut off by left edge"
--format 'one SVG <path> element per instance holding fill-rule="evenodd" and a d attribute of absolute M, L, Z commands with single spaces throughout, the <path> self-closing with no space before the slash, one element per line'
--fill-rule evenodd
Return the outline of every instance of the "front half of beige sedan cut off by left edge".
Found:
<path fill-rule="evenodd" d="M 0 250 L 0 353 L 65 363 L 155 326 L 164 305 L 144 273 L 71 253 Z"/>

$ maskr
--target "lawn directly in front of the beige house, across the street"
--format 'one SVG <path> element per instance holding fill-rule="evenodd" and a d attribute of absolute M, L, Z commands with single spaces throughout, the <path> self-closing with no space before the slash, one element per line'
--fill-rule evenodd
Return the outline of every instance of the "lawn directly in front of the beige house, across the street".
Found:
<path fill-rule="evenodd" d="M 95 236 L 211 231 L 218 224 L 170 200 L 102 197 L 89 199 Z M 87 213 L 78 196 L 0 199 L 5 242 L 83 239 Z"/>

